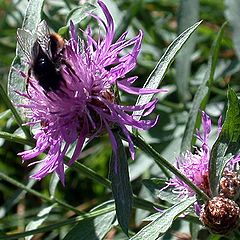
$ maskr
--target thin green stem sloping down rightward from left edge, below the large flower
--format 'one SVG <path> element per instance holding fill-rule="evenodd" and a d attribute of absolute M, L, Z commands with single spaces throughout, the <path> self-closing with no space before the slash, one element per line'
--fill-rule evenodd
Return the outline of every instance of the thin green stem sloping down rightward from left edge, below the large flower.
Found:
<path fill-rule="evenodd" d="M 76 214 L 78 214 L 78 215 L 79 215 L 79 214 L 80 214 L 80 215 L 83 214 L 83 212 L 79 211 L 78 209 L 74 208 L 73 206 L 71 206 L 71 205 L 69 205 L 69 204 L 67 204 L 67 203 L 65 203 L 65 202 L 62 202 L 62 201 L 59 200 L 59 199 L 50 198 L 50 197 L 48 197 L 48 196 L 45 196 L 45 195 L 43 195 L 43 194 L 41 194 L 41 193 L 39 193 L 39 192 L 37 192 L 37 191 L 35 191 L 35 190 L 27 187 L 27 186 L 25 186 L 24 184 L 20 183 L 19 181 L 16 181 L 16 180 L 14 180 L 13 178 L 7 176 L 7 175 L 4 174 L 3 172 L 0 172 L 0 178 L 2 178 L 3 180 L 11 183 L 12 185 L 14 185 L 14 186 L 16 186 L 16 187 L 18 187 L 18 188 L 21 188 L 21 189 L 23 189 L 23 190 L 25 190 L 25 191 L 33 194 L 33 195 L 36 196 L 36 197 L 39 197 L 39 198 L 45 200 L 46 202 L 49 202 L 49 203 L 51 203 L 51 204 L 58 203 L 60 206 L 66 208 L 66 209 L 68 209 L 68 210 L 74 211 L 74 212 L 75 212 Z"/>

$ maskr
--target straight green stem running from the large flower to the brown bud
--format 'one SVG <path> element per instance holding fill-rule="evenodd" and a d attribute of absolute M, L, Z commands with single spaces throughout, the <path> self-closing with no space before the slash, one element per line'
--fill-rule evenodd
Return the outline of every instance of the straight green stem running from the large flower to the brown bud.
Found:
<path fill-rule="evenodd" d="M 186 183 L 193 191 L 196 192 L 202 199 L 208 200 L 209 197 L 195 184 L 193 184 L 187 177 L 185 177 L 177 168 L 175 168 L 171 163 L 169 163 L 165 158 L 163 158 L 157 151 L 155 151 L 149 144 L 147 144 L 142 138 L 136 137 L 134 135 L 131 136 L 134 144 L 143 150 L 145 153 L 150 155 L 154 161 L 167 168 L 174 175 L 176 175 L 179 179 L 181 179 L 184 183 Z"/>

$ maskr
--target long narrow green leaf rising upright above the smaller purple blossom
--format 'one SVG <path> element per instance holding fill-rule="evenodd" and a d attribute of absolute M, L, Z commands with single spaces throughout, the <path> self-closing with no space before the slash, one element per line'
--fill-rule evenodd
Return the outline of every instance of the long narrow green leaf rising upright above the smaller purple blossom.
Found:
<path fill-rule="evenodd" d="M 222 27 L 219 30 L 218 35 L 212 45 L 206 74 L 204 76 L 202 84 L 198 87 L 198 90 L 194 96 L 192 107 L 189 111 L 186 128 L 185 128 L 185 131 L 183 134 L 183 139 L 182 139 L 182 144 L 181 144 L 181 152 L 186 152 L 187 150 L 191 151 L 192 139 L 193 139 L 193 134 L 194 134 L 195 128 L 196 128 L 196 122 L 197 122 L 199 110 L 200 110 L 200 108 L 202 110 L 204 110 L 207 100 L 208 100 L 208 97 L 209 97 L 210 87 L 213 83 L 214 72 L 215 72 L 216 65 L 217 65 L 218 52 L 219 52 L 219 48 L 221 45 L 221 40 L 223 37 L 223 31 L 224 31 L 225 26 L 226 26 L 226 23 L 224 23 L 222 25 Z"/>

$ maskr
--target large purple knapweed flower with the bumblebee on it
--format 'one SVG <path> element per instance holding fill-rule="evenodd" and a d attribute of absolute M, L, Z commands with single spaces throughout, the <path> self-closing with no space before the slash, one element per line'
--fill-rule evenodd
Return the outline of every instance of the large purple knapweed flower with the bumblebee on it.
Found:
<path fill-rule="evenodd" d="M 88 27 L 83 31 L 83 40 L 77 36 L 73 23 L 70 24 L 70 39 L 65 40 L 62 56 L 64 81 L 60 83 L 59 90 L 46 92 L 32 75 L 28 94 L 21 94 L 26 102 L 21 107 L 28 110 L 27 124 L 37 130 L 35 148 L 19 155 L 27 161 L 47 152 L 44 159 L 31 163 L 41 164 L 41 169 L 32 176 L 35 179 L 42 179 L 55 171 L 64 184 L 64 156 L 70 145 L 75 143 L 69 165 L 79 157 L 86 139 L 91 140 L 104 132 L 108 132 L 116 153 L 114 126 L 125 134 L 134 159 L 135 150 L 127 126 L 147 130 L 156 124 L 157 118 L 137 121 L 132 116 L 132 112 L 138 110 L 144 110 L 143 115 L 147 116 L 154 110 L 156 100 L 141 106 L 121 105 L 114 92 L 114 88 L 135 95 L 160 91 L 133 87 L 137 77 L 126 77 L 136 66 L 143 33 L 139 31 L 136 37 L 127 40 L 125 32 L 114 41 L 113 18 L 102 1 L 98 4 L 106 21 L 94 14 L 91 17 L 104 27 L 105 34 L 99 31 L 96 37 Z"/>

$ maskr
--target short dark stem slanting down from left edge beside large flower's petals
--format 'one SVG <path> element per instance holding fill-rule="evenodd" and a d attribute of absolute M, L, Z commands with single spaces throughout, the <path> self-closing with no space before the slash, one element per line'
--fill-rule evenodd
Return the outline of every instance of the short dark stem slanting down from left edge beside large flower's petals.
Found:
<path fill-rule="evenodd" d="M 7 108 L 11 109 L 11 111 L 13 113 L 13 116 L 15 117 L 18 126 L 20 128 L 22 128 L 22 130 L 23 130 L 24 134 L 26 135 L 26 137 L 27 138 L 31 138 L 31 135 L 30 135 L 28 127 L 23 126 L 22 118 L 18 114 L 17 109 L 13 106 L 11 100 L 9 99 L 8 95 L 6 94 L 6 92 L 3 89 L 1 84 L 0 84 L 0 96 L 1 96 L 1 98 L 3 100 L 3 102 L 5 103 L 5 105 L 7 106 Z"/>

